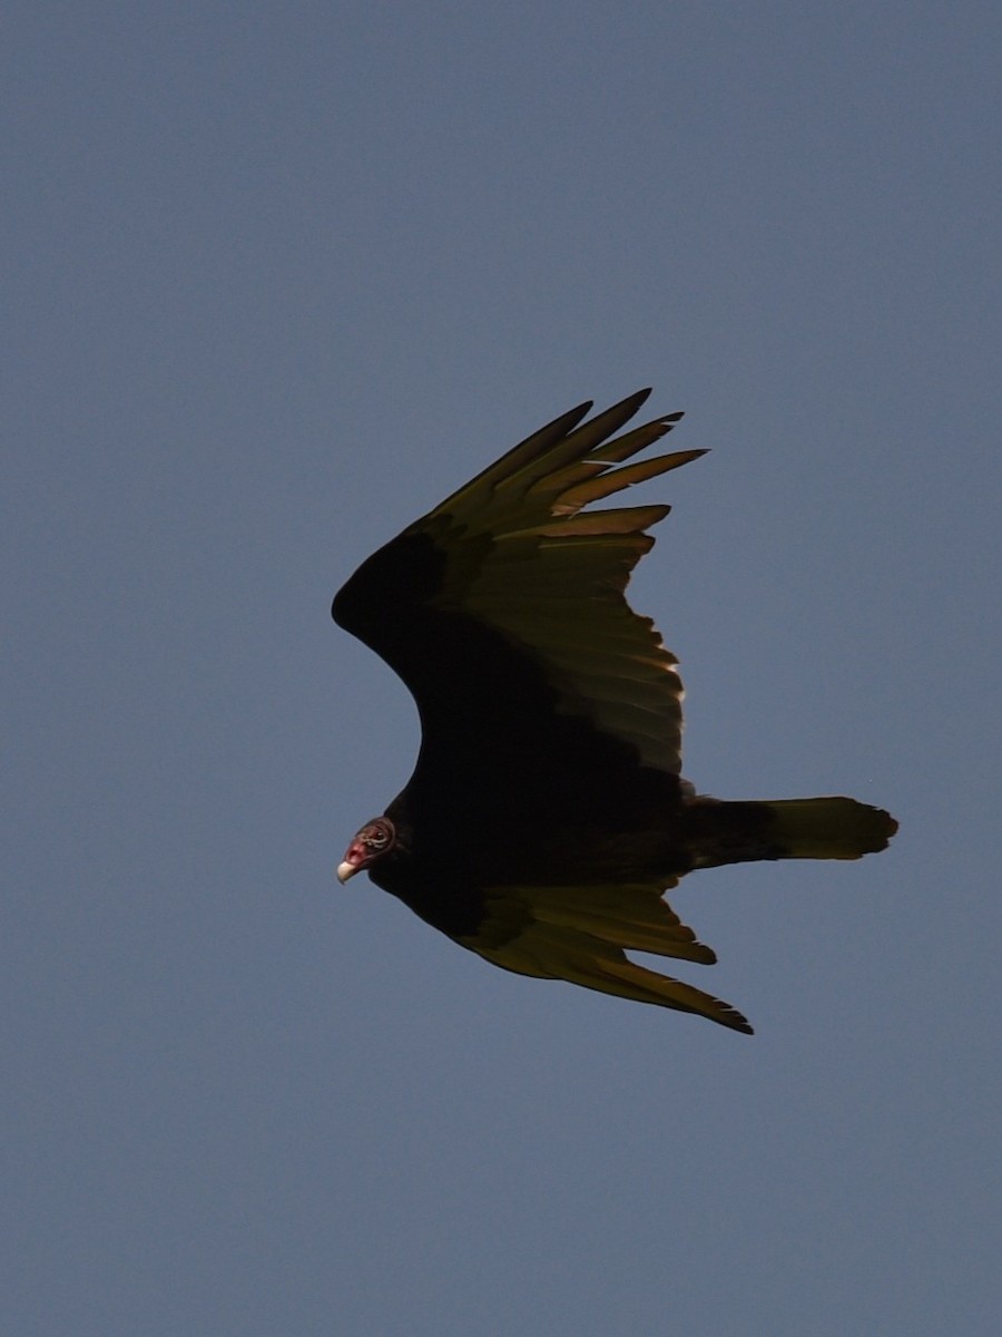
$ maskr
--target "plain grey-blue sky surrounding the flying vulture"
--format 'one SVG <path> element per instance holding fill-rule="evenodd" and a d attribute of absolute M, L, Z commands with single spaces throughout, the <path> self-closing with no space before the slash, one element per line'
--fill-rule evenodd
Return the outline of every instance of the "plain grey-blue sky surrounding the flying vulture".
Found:
<path fill-rule="evenodd" d="M 998 1332 L 999 7 L 13 0 L 0 59 L 0 1328 Z M 712 448 L 632 587 L 687 774 L 902 822 L 673 896 L 752 1039 L 333 877 L 417 746 L 334 590 L 643 385 Z"/>

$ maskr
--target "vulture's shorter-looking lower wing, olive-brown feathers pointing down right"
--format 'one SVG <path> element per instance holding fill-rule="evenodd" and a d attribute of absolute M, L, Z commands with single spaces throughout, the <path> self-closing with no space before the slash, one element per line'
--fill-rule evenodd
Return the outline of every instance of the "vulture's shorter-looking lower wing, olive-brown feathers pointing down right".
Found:
<path fill-rule="evenodd" d="M 704 965 L 716 960 L 655 886 L 492 888 L 485 894 L 480 931 L 460 941 L 518 975 L 566 980 L 600 993 L 695 1012 L 752 1034 L 745 1017 L 728 1003 L 625 956 L 624 948 Z"/>

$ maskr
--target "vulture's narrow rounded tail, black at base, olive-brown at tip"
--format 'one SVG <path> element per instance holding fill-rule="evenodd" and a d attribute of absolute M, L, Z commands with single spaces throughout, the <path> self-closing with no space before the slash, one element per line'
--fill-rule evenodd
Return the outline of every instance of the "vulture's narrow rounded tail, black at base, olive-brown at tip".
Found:
<path fill-rule="evenodd" d="M 775 798 L 687 804 L 687 844 L 696 868 L 763 858 L 860 858 L 887 848 L 898 830 L 882 808 L 855 798 Z"/>

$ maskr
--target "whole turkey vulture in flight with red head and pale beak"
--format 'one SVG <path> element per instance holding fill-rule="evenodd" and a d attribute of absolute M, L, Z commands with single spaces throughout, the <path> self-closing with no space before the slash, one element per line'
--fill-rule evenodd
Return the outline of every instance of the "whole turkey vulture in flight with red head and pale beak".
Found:
<path fill-rule="evenodd" d="M 704 455 L 613 468 L 675 427 L 616 436 L 640 390 L 540 428 L 369 558 L 335 622 L 403 679 L 414 773 L 338 868 L 366 869 L 494 965 L 695 1012 L 735 1008 L 631 961 L 712 964 L 661 898 L 680 877 L 771 858 L 859 858 L 898 824 L 852 798 L 721 802 L 681 778 L 677 659 L 624 598 L 667 505 L 585 507 Z"/>

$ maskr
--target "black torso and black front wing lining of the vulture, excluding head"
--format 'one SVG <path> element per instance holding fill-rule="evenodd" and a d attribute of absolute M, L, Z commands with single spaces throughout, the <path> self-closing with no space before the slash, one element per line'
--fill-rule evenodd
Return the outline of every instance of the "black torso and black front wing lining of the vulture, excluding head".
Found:
<path fill-rule="evenodd" d="M 337 620 L 407 682 L 421 717 L 414 774 L 386 809 L 399 844 L 370 869 L 377 886 L 465 937 L 482 919 L 477 889 L 490 882 L 687 872 L 669 866 L 677 775 L 637 766 L 627 743 L 561 714 L 556 689 L 498 631 L 429 610 L 440 567 L 430 540 L 402 536 L 334 602 Z M 366 626 L 374 592 L 379 618 Z"/>

